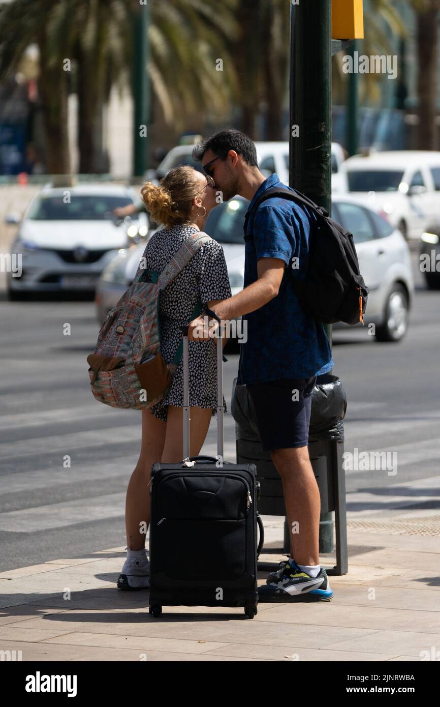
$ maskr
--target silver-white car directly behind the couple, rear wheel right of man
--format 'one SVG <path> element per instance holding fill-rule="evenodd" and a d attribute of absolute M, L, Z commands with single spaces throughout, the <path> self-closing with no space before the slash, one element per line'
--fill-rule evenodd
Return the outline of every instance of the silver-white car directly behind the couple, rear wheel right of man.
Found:
<path fill-rule="evenodd" d="M 206 232 L 222 244 L 225 252 L 233 295 L 244 284 L 243 223 L 248 206 L 249 201 L 243 197 L 234 197 L 216 206 L 206 222 Z M 353 233 L 359 268 L 370 289 L 365 327 L 374 324 L 380 341 L 402 339 L 408 329 L 414 293 L 408 243 L 398 229 L 351 194 L 333 195 L 332 216 Z M 102 273 L 96 295 L 100 322 L 131 285 L 144 250 L 145 245 L 141 244 L 121 252 Z"/>

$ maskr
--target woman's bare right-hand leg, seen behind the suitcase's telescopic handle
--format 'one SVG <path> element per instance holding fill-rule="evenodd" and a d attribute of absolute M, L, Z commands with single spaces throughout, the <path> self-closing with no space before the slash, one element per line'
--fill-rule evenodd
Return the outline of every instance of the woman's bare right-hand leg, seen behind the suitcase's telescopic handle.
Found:
<path fill-rule="evenodd" d="M 213 411 L 211 408 L 190 407 L 189 409 L 189 456 L 196 457 L 203 447 L 208 433 Z M 177 463 L 184 457 L 183 408 L 168 406 L 167 431 L 162 452 L 162 462 Z"/>

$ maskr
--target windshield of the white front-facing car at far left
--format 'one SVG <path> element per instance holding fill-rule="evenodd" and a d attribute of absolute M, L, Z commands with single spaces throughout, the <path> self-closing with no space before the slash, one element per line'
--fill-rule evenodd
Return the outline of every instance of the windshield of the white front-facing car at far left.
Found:
<path fill-rule="evenodd" d="M 107 211 L 128 204 L 133 204 L 129 197 L 109 197 L 103 194 L 72 195 L 66 203 L 64 194 L 42 196 L 34 201 L 27 218 L 32 221 L 102 221 Z M 138 218 L 138 214 L 131 214 L 131 218 Z"/>

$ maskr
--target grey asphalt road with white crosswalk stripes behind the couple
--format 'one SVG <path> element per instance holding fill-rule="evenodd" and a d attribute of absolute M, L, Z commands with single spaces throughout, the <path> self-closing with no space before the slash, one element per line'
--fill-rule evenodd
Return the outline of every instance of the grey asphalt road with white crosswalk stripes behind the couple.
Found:
<path fill-rule="evenodd" d="M 439 507 L 438 484 L 429 479 L 440 473 L 440 291 L 424 289 L 413 258 L 417 291 L 403 341 L 379 344 L 358 328 L 333 333 L 333 373 L 348 399 L 345 450 L 398 454 L 396 475 L 347 472 L 348 508 L 360 514 L 392 505 L 396 484 L 409 507 Z M 140 450 L 141 412 L 108 408 L 90 392 L 93 303 L 3 298 L 0 321 L 0 571 L 125 546 L 125 491 Z M 231 355 L 224 369 L 230 460 L 237 363 Z M 215 453 L 215 434 L 213 421 L 203 452 Z M 424 501 L 415 496 L 417 483 Z"/>

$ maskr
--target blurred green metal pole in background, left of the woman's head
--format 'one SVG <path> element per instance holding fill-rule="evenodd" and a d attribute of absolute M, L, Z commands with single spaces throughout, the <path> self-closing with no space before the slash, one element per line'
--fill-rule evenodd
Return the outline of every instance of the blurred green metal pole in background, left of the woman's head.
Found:
<path fill-rule="evenodd" d="M 143 177 L 150 164 L 150 82 L 148 78 L 148 0 L 133 1 L 133 177 Z M 145 134 L 146 132 L 146 134 Z"/>

